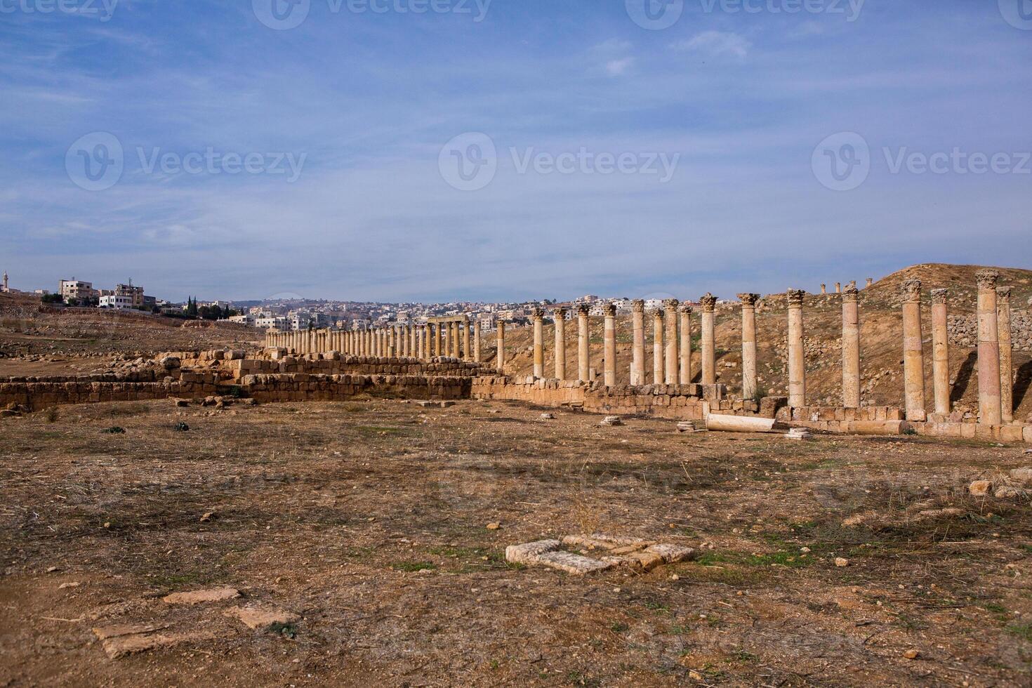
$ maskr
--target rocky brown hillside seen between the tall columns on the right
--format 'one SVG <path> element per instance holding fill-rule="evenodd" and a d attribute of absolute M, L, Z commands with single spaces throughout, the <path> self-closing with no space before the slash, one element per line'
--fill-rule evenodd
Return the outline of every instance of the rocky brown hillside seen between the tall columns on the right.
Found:
<path fill-rule="evenodd" d="M 974 312 L 977 265 L 923 264 L 894 272 L 861 291 L 861 374 L 863 396 L 867 403 L 902 404 L 902 324 L 900 286 L 904 280 L 920 279 L 924 288 L 928 399 L 931 403 L 931 297 L 932 289 L 949 290 L 950 371 L 954 396 L 958 407 L 974 408 L 976 403 L 976 358 L 974 355 Z M 1011 326 L 1014 330 L 1014 400 L 1019 404 L 1017 418 L 1032 413 L 1032 394 L 1027 394 L 1032 382 L 1032 270 L 998 268 L 1000 285 L 1012 288 Z M 747 286 L 743 286 L 747 289 Z M 718 380 L 733 392 L 741 390 L 741 324 L 740 310 L 733 294 L 720 294 L 731 299 L 717 306 L 717 370 Z M 698 298 L 698 296 L 695 296 Z M 806 325 L 806 365 L 808 401 L 838 403 L 841 393 L 841 300 L 837 294 L 807 296 L 804 320 Z M 646 318 L 646 371 L 652 369 L 651 323 Z M 699 316 L 692 316 L 696 336 L 694 371 L 698 378 Z M 760 388 L 768 394 L 785 394 L 786 385 L 786 324 L 784 297 L 772 294 L 761 299 L 756 309 Z M 577 328 L 567 326 L 568 369 L 576 372 Z M 617 323 L 617 382 L 628 382 L 631 365 L 631 319 L 620 317 Z M 545 328 L 546 371 L 553 370 L 552 341 L 554 330 Z M 487 343 L 493 346 L 490 335 Z M 529 374 L 533 370 L 530 328 L 507 331 L 507 357 L 510 372 Z M 488 348 L 485 345 L 485 348 Z M 493 360 L 493 350 L 488 353 Z M 592 367 L 602 370 L 602 319 L 591 323 Z"/>

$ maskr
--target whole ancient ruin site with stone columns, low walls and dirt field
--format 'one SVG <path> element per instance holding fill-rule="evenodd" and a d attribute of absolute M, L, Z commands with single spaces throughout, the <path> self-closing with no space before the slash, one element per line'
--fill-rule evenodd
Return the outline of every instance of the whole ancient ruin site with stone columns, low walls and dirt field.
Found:
<path fill-rule="evenodd" d="M 1021 685 L 1030 297 L 924 265 L 257 336 L 0 301 L 5 678 Z"/>

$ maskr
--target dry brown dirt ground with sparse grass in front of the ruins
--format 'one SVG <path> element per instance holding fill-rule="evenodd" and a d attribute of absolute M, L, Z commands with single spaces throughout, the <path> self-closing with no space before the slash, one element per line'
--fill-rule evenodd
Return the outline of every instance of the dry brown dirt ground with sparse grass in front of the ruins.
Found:
<path fill-rule="evenodd" d="M 1032 465 L 1024 447 L 541 412 L 154 401 L 0 421 L 0 685 L 1032 682 L 1028 500 L 966 491 Z M 584 578 L 505 562 L 581 532 L 699 557 Z M 221 586 L 240 597 L 162 599 Z M 226 616 L 256 604 L 299 620 Z M 110 659 L 91 629 L 112 624 L 167 646 Z"/>

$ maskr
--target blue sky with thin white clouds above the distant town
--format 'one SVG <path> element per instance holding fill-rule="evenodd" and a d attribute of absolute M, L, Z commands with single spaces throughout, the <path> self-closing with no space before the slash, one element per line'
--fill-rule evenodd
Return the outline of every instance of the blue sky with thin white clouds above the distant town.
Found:
<path fill-rule="evenodd" d="M 697 298 L 1030 266 L 1030 0 L 62 1 L 0 0 L 15 288 Z"/>

